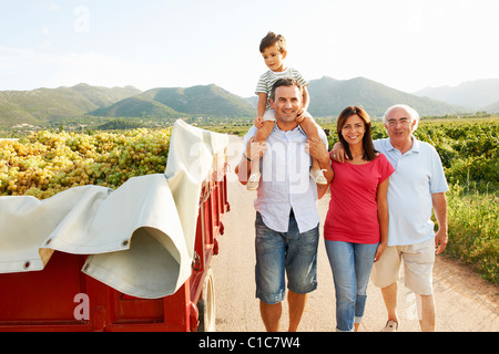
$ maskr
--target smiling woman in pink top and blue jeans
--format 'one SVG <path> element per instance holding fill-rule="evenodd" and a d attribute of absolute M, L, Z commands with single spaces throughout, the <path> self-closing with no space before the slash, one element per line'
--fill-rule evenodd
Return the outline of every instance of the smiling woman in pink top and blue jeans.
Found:
<path fill-rule="evenodd" d="M 387 243 L 386 195 L 394 168 L 375 150 L 370 118 L 363 108 L 345 108 L 337 134 L 349 159 L 344 164 L 332 159 L 334 178 L 324 237 L 336 290 L 336 330 L 357 331 L 373 263 Z"/>

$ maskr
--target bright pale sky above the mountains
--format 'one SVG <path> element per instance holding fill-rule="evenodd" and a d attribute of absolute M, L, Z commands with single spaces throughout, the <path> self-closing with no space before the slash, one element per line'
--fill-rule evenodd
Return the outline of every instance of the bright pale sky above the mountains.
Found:
<path fill-rule="evenodd" d="M 0 90 L 215 83 L 253 95 L 267 31 L 308 80 L 414 92 L 499 79 L 498 0 L 19 0 L 0 3 Z"/>

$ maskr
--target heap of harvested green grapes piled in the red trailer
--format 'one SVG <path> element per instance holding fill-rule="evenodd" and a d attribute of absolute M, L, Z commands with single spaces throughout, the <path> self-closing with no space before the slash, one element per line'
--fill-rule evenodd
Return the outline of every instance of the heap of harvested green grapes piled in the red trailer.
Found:
<path fill-rule="evenodd" d="M 124 133 L 31 133 L 0 140 L 0 196 L 45 199 L 75 186 L 118 188 L 129 178 L 163 173 L 172 128 Z"/>

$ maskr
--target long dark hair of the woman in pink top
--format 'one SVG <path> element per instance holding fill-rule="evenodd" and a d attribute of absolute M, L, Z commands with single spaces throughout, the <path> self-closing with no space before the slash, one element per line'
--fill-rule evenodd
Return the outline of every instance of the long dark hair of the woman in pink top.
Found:
<path fill-rule="evenodd" d="M 367 114 L 366 111 L 364 111 L 361 107 L 357 106 L 349 106 L 343 110 L 342 114 L 338 116 L 338 121 L 336 123 L 336 133 L 338 134 L 339 142 L 343 145 L 343 148 L 347 153 L 349 158 L 352 157 L 350 149 L 348 147 L 348 143 L 345 140 L 345 138 L 342 135 L 343 126 L 345 125 L 348 117 L 353 115 L 358 115 L 360 119 L 364 122 L 364 126 L 366 127 L 366 132 L 364 133 L 363 137 L 363 147 L 364 147 L 364 156 L 363 159 L 367 162 L 371 162 L 377 156 L 377 150 L 374 148 L 373 145 L 373 137 L 371 137 L 371 127 L 370 127 L 370 117 Z"/>

